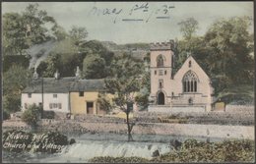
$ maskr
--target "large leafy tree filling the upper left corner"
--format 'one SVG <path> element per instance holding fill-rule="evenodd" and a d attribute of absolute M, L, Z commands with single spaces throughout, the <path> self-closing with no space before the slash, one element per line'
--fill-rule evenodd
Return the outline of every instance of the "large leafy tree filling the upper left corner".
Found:
<path fill-rule="evenodd" d="M 23 55 L 33 44 L 41 43 L 51 36 L 45 25 L 56 25 L 38 4 L 30 4 L 22 14 L 6 13 L 3 16 L 4 55 Z"/>

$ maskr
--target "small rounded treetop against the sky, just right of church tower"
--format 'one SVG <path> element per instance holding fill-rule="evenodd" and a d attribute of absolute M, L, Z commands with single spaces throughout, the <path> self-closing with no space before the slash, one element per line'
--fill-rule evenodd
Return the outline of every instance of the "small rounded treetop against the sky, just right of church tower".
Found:
<path fill-rule="evenodd" d="M 194 18 L 188 18 L 185 21 L 178 23 L 178 25 L 180 26 L 180 31 L 185 40 L 189 40 L 199 28 L 198 22 Z"/>

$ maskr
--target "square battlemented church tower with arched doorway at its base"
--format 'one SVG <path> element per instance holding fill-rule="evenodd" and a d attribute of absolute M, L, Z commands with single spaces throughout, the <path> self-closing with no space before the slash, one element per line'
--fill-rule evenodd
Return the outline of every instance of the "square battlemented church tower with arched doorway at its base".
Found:
<path fill-rule="evenodd" d="M 174 40 L 151 44 L 151 99 L 158 105 L 169 105 L 170 82 L 173 79 Z"/>

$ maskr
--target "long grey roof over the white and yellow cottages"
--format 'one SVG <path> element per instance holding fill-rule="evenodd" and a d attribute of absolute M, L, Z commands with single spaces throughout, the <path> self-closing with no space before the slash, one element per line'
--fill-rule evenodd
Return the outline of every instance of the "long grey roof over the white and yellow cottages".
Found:
<path fill-rule="evenodd" d="M 93 91 L 102 90 L 104 87 L 103 80 L 79 80 L 75 77 L 60 78 L 44 78 L 43 92 L 44 93 L 67 93 L 70 91 Z M 29 86 L 24 90 L 24 93 L 41 93 L 42 80 L 32 80 Z"/>

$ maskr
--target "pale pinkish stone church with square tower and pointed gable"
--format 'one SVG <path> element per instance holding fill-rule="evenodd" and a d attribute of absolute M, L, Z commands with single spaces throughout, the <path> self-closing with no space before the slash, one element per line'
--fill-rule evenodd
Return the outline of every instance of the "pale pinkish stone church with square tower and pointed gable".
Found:
<path fill-rule="evenodd" d="M 150 112 L 206 112 L 212 110 L 211 79 L 188 55 L 173 74 L 174 41 L 151 44 Z"/>

